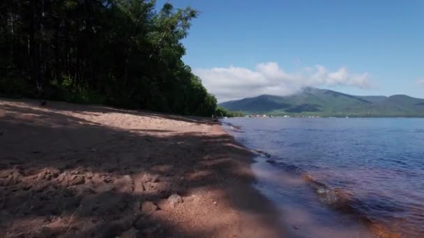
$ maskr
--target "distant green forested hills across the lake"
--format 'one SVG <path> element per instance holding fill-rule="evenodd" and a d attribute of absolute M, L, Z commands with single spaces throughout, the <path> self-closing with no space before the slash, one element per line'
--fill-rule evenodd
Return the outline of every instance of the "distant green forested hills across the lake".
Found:
<path fill-rule="evenodd" d="M 320 88 L 304 88 L 287 96 L 260 95 L 222 102 L 231 111 L 271 115 L 424 117 L 424 99 L 407 95 L 356 96 Z"/>

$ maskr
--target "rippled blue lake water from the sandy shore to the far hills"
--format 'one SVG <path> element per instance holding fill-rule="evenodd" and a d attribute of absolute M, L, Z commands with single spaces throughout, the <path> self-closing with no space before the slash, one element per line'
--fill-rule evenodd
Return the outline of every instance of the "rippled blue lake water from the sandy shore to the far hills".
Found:
<path fill-rule="evenodd" d="M 223 122 L 237 141 L 262 151 L 252 166 L 255 186 L 279 205 L 294 236 L 365 237 L 372 228 L 424 237 L 424 119 Z"/>

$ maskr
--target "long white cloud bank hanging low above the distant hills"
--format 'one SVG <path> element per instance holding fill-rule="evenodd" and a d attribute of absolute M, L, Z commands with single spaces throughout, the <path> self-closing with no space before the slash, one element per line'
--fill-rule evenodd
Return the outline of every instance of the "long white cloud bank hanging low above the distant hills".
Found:
<path fill-rule="evenodd" d="M 288 73 L 278 63 L 267 62 L 257 64 L 255 70 L 231 66 L 196 68 L 193 72 L 202 79 L 206 89 L 218 98 L 218 102 L 262 94 L 289 95 L 305 86 L 370 88 L 367 73 L 351 74 L 345 67 L 330 72 L 322 65 L 315 65 Z"/>

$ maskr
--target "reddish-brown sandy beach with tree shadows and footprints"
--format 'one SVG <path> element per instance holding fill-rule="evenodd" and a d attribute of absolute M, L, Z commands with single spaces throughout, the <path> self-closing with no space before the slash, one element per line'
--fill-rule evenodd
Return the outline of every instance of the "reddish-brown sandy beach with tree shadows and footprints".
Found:
<path fill-rule="evenodd" d="M 0 98 L 0 237 L 283 237 L 210 118 Z"/>

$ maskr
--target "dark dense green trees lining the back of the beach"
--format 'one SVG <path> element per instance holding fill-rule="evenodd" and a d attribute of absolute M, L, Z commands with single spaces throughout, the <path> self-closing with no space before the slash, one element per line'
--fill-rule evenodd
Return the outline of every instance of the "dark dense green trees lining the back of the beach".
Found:
<path fill-rule="evenodd" d="M 211 116 L 181 57 L 197 11 L 142 0 L 3 0 L 0 94 Z"/>

